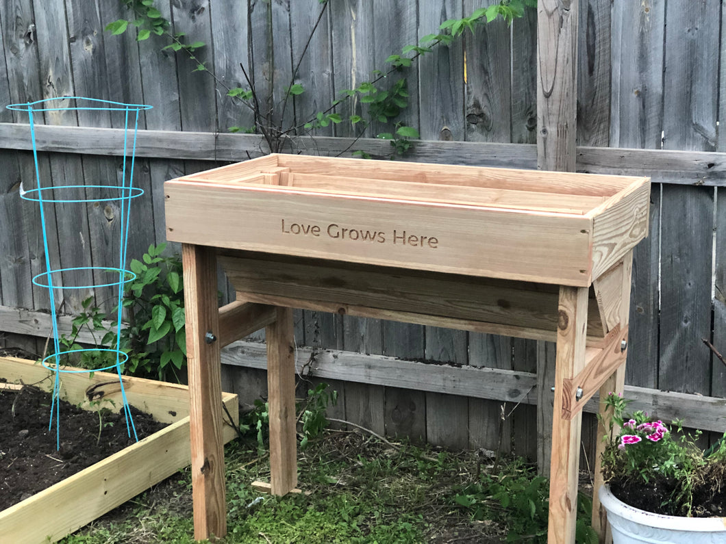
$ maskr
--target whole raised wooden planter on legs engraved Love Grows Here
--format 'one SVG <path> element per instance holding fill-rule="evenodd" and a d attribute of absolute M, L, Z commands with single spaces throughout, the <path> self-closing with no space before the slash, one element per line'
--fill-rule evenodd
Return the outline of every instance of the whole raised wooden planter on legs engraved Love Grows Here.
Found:
<path fill-rule="evenodd" d="M 574 542 L 582 407 L 624 387 L 649 178 L 272 154 L 167 181 L 165 195 L 197 399 L 197 539 L 227 532 L 219 348 L 261 326 L 271 491 L 297 484 L 290 308 L 303 308 L 557 342 L 548 540 Z M 221 309 L 218 262 L 237 290 Z"/>

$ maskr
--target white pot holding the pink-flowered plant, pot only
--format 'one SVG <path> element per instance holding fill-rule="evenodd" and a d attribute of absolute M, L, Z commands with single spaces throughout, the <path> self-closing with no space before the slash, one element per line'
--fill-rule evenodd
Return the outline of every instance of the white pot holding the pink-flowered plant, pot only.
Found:
<path fill-rule="evenodd" d="M 726 544 L 726 518 L 661 516 L 628 506 L 606 485 L 600 503 L 608 511 L 613 544 Z"/>

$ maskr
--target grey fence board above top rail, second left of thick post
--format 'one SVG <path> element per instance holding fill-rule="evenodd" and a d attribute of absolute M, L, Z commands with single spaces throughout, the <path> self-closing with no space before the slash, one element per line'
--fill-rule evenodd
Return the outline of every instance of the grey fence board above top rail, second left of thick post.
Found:
<path fill-rule="evenodd" d="M 464 12 L 496 4 L 465 0 Z M 502 17 L 482 25 L 465 40 L 465 136 L 468 141 L 511 141 L 511 42 Z"/>

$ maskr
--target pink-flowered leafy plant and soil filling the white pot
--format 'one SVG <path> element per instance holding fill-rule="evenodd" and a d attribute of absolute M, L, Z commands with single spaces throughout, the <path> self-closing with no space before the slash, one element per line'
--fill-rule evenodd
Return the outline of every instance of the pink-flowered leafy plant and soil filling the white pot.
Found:
<path fill-rule="evenodd" d="M 714 515 L 722 497 L 726 514 L 726 440 L 706 456 L 696 445 L 700 431 L 687 434 L 680 421 L 669 428 L 643 411 L 626 416 L 629 401 L 613 393 L 604 402 L 612 416 L 604 421 L 603 477 L 613 495 L 656 514 L 698 517 Z"/>

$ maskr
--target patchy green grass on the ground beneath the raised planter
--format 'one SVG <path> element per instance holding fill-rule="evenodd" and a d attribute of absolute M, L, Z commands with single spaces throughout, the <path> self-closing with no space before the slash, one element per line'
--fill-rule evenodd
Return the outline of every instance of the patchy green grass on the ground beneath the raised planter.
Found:
<path fill-rule="evenodd" d="M 494 459 L 476 452 L 325 431 L 298 454 L 306 494 L 276 498 L 250 486 L 269 481 L 269 459 L 259 455 L 256 442 L 232 442 L 226 456 L 228 535 L 218 543 L 546 541 L 547 483 L 521 460 L 495 467 Z M 592 534 L 581 535 L 578 542 L 592 541 Z M 62 540 L 194 542 L 188 471 Z"/>

